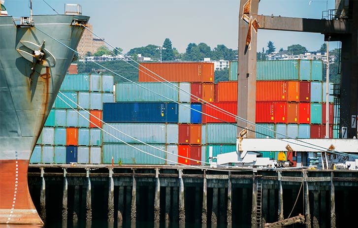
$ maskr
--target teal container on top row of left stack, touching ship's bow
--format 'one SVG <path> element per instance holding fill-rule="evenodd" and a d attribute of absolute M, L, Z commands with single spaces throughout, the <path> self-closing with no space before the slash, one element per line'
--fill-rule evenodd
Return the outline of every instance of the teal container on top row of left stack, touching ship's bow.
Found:
<path fill-rule="evenodd" d="M 89 91 L 90 74 L 66 74 L 60 91 Z"/>

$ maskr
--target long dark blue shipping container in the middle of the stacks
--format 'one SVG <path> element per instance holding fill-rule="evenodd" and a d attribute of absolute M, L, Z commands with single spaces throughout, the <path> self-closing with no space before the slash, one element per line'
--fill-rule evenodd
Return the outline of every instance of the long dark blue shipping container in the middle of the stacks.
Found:
<path fill-rule="evenodd" d="M 177 103 L 104 103 L 107 123 L 178 123 Z"/>

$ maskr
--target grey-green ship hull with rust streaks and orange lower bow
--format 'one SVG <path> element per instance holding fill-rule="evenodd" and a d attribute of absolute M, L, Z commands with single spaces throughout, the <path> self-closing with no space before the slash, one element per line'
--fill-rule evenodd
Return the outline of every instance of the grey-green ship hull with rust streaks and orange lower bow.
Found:
<path fill-rule="evenodd" d="M 63 44 L 75 50 L 84 30 L 74 19 L 87 23 L 89 17 L 39 15 L 33 16 L 34 26 L 0 17 L 0 224 L 43 224 L 29 193 L 27 170 L 73 60 L 74 52 Z M 26 53 L 36 48 L 44 53 L 40 61 Z"/>

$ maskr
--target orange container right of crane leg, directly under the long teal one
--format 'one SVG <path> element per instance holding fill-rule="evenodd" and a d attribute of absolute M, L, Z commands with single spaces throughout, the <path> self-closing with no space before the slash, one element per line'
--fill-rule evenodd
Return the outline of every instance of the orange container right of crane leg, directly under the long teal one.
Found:
<path fill-rule="evenodd" d="M 286 101 L 287 82 L 286 81 L 257 81 L 256 100 L 257 101 Z"/>

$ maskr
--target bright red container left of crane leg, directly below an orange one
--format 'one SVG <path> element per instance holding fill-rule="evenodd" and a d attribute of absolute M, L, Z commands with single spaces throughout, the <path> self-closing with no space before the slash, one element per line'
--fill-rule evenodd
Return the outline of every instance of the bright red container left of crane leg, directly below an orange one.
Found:
<path fill-rule="evenodd" d="M 210 104 L 216 106 L 213 107 Z M 236 123 L 236 118 L 232 115 L 229 115 L 227 112 L 237 116 L 237 102 L 212 102 L 210 104 L 205 104 L 201 106 L 202 114 L 201 122 L 205 123 Z M 221 109 L 227 111 L 222 111 Z M 207 114 L 207 115 L 205 115 Z M 212 116 L 212 117 L 211 117 Z M 216 117 L 216 118 L 214 118 Z"/>

